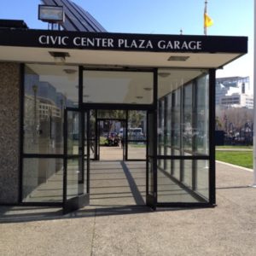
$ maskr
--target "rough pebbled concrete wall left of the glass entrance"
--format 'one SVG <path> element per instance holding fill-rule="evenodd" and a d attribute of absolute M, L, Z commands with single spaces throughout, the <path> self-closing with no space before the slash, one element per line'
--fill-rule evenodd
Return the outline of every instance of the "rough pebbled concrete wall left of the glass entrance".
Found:
<path fill-rule="evenodd" d="M 0 204 L 19 200 L 20 64 L 0 63 Z"/>

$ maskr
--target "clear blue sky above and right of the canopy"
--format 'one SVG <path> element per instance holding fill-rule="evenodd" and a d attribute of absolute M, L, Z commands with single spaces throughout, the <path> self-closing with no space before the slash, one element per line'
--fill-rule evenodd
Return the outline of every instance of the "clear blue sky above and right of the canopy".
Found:
<path fill-rule="evenodd" d="M 0 19 L 25 20 L 29 28 L 47 29 L 38 20 L 39 0 L 1 1 Z M 73 0 L 108 32 L 203 35 L 205 0 Z M 248 54 L 218 70 L 217 77 L 249 76 L 253 84 L 253 0 L 208 0 L 213 20 L 208 35 L 247 36 Z"/>

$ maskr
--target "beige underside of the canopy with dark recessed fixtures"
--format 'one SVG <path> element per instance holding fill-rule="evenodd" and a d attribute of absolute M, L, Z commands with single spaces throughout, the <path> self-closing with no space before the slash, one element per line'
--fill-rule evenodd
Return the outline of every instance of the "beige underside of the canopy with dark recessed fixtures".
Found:
<path fill-rule="evenodd" d="M 32 47 L 0 46 L 0 61 L 55 63 L 49 51 L 68 52 L 66 65 L 100 65 L 113 67 L 188 67 L 219 68 L 233 61 L 240 54 L 227 53 L 158 53 L 121 50 L 47 49 Z M 171 55 L 189 56 L 187 61 L 168 61 Z"/>

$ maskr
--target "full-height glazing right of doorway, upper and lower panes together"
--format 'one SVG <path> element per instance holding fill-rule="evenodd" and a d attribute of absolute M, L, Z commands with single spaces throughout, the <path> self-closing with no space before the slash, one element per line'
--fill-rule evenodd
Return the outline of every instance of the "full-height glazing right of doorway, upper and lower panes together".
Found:
<path fill-rule="evenodd" d="M 158 202 L 209 200 L 209 78 L 169 70 L 158 79 Z M 166 72 L 167 73 L 167 72 Z"/>

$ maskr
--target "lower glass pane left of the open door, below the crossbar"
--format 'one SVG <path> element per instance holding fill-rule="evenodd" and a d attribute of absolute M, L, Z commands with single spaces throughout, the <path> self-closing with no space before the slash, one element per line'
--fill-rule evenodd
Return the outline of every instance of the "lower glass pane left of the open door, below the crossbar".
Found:
<path fill-rule="evenodd" d="M 61 202 L 63 160 L 23 159 L 23 202 Z"/>

